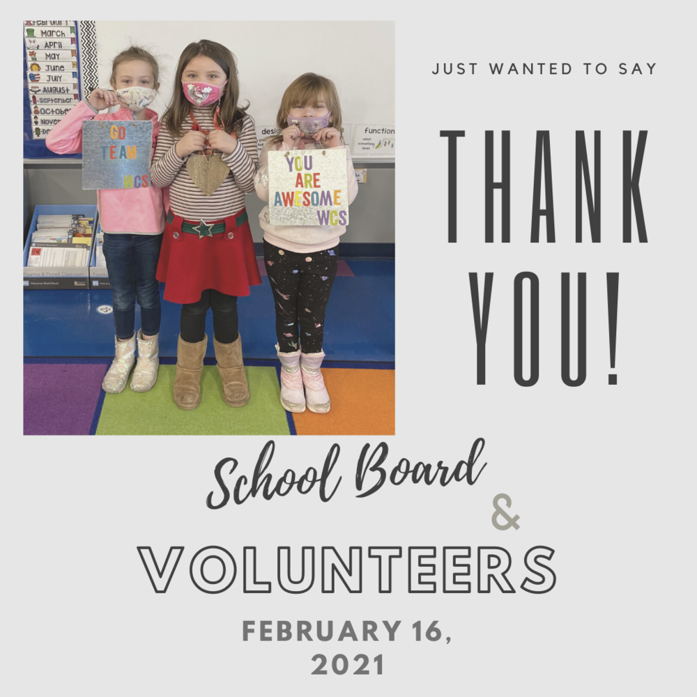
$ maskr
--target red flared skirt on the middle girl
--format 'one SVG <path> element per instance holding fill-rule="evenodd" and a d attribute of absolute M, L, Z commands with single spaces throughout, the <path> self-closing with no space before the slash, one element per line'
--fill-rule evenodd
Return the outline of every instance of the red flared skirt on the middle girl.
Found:
<path fill-rule="evenodd" d="M 157 273 L 158 281 L 166 284 L 165 300 L 182 305 L 198 302 L 207 288 L 229 296 L 248 296 L 250 286 L 261 284 L 250 224 L 245 221 L 238 227 L 235 222 L 243 213 L 245 209 L 226 217 L 224 232 L 201 238 L 181 229 L 183 222 L 195 225 L 199 221 L 167 216 Z"/>

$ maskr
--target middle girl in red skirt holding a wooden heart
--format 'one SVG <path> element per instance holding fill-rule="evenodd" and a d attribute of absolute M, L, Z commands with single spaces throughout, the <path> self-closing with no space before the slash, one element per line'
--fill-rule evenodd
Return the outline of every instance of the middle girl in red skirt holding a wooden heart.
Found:
<path fill-rule="evenodd" d="M 169 186 L 157 277 L 166 284 L 164 299 L 182 304 L 174 380 L 174 402 L 182 409 L 201 401 L 209 307 L 223 399 L 229 406 L 250 399 L 237 298 L 261 283 L 245 210 L 258 158 L 254 123 L 238 95 L 231 52 L 214 41 L 188 45 L 151 167 L 153 184 Z"/>

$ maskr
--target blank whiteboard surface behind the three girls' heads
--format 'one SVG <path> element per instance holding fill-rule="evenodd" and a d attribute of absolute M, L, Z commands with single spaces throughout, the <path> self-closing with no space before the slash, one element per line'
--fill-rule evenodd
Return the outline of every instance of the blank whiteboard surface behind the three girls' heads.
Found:
<path fill-rule="evenodd" d="M 160 63 L 160 116 L 171 98 L 184 47 L 209 39 L 238 62 L 240 101 L 257 126 L 276 122 L 286 87 L 303 72 L 333 80 L 344 123 L 395 123 L 394 22 L 96 22 L 100 87 L 109 88 L 114 56 L 129 45 Z"/>

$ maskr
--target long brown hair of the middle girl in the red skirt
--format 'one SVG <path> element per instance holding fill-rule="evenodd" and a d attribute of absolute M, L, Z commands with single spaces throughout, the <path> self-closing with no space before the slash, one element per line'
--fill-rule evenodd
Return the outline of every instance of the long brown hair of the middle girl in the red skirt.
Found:
<path fill-rule="evenodd" d="M 182 51 L 179 58 L 176 75 L 174 75 L 172 100 L 162 116 L 162 121 L 164 121 L 169 135 L 175 138 L 181 138 L 184 135 L 182 125 L 185 118 L 189 116 L 189 109 L 192 105 L 184 96 L 181 77 L 186 66 L 196 58 L 196 56 L 207 56 L 213 59 L 227 76 L 227 84 L 225 85 L 225 90 L 220 100 L 220 118 L 222 119 L 226 132 L 234 132 L 236 135 L 240 135 L 242 132 L 242 120 L 250 105 L 247 102 L 246 107 L 240 107 L 237 103 L 240 96 L 240 82 L 237 79 L 237 62 L 235 56 L 222 44 L 206 39 L 201 39 L 201 41 L 197 41 L 196 43 L 190 43 Z M 216 106 L 216 104 L 210 105 L 211 113 L 215 111 Z"/>

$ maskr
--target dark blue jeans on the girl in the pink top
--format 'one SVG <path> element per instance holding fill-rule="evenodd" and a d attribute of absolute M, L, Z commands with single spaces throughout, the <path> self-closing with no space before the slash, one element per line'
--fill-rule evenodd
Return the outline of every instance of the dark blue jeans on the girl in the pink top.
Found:
<path fill-rule="evenodd" d="M 114 305 L 114 327 L 118 339 L 130 339 L 135 329 L 135 302 L 140 305 L 143 333 L 160 332 L 160 283 L 155 278 L 160 259 L 162 235 L 117 235 L 104 233 Z"/>

